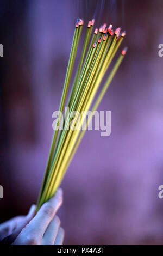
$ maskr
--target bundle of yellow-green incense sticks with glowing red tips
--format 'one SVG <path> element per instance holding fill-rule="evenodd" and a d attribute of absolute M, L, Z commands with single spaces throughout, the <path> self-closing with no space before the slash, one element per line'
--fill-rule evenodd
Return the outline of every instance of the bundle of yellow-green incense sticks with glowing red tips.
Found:
<path fill-rule="evenodd" d="M 121 28 L 117 28 L 115 32 L 112 30 L 112 25 L 109 27 L 106 24 L 99 29 L 95 29 L 92 34 L 95 20 L 89 21 L 86 29 L 83 49 L 74 77 L 72 89 L 70 92 L 67 106 L 70 111 L 66 119 L 64 119 L 64 128 L 59 130 L 61 124 L 61 115 L 58 116 L 51 149 L 49 151 L 45 175 L 43 178 L 39 199 L 37 201 L 37 210 L 40 206 L 51 198 L 59 187 L 65 172 L 76 153 L 78 145 L 82 140 L 89 121 L 93 117 L 93 112 L 96 111 L 101 102 L 106 89 L 109 87 L 112 78 L 115 76 L 126 52 L 127 47 L 123 49 L 120 56 L 117 58 L 109 76 L 99 93 L 96 102 L 92 106 L 95 95 L 101 84 L 104 75 L 106 74 L 112 59 L 114 58 L 118 48 L 120 47 L 126 32 L 121 33 Z M 67 100 L 68 87 L 70 86 L 74 60 L 82 33 L 84 22 L 83 19 L 78 19 L 74 30 L 70 58 L 68 61 L 67 72 L 65 77 L 64 89 L 61 96 L 60 113 L 63 113 Z M 92 35 L 91 35 L 92 34 Z M 91 108 L 92 106 L 92 108 Z M 79 122 L 79 129 L 69 129 L 71 125 L 75 125 L 76 119 L 72 119 L 71 113 L 86 113 L 91 108 L 92 114 L 85 121 L 83 117 Z M 84 123 L 85 122 L 85 123 Z M 85 126 L 85 129 L 80 129 Z"/>

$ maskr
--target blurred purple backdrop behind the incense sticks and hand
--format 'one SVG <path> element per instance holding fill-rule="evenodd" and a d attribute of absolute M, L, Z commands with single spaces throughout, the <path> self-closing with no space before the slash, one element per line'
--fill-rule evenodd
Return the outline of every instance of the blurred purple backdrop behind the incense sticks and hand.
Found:
<path fill-rule="evenodd" d="M 36 203 L 77 17 L 126 29 L 129 51 L 103 102 L 111 136 L 87 131 L 62 182 L 65 245 L 163 241 L 163 2 L 0 1 L 0 222 Z M 84 35 L 84 32 L 83 32 Z M 83 38 L 82 38 L 83 39 Z M 80 57 L 82 42 L 77 53 Z M 76 63 L 77 63 L 76 61 Z"/>

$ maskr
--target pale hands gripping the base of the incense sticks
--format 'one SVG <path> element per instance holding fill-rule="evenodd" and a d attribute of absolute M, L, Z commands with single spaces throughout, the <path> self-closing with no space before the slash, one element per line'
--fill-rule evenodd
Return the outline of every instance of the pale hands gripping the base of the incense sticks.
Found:
<path fill-rule="evenodd" d="M 5 245 L 62 245 L 64 229 L 56 214 L 62 204 L 62 190 L 43 204 L 35 215 L 32 205 L 27 216 L 17 216 L 0 224 L 0 237 Z M 34 216 L 35 215 L 35 216 Z"/>

